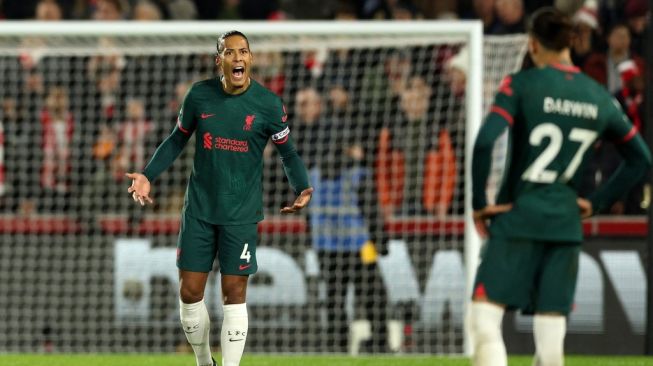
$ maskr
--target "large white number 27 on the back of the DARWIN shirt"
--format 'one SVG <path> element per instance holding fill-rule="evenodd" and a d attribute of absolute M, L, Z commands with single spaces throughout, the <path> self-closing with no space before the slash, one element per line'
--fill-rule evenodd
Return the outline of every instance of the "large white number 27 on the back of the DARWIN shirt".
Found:
<path fill-rule="evenodd" d="M 580 146 L 569 162 L 569 165 L 567 165 L 567 169 L 562 173 L 562 182 L 567 182 L 574 176 L 583 159 L 583 155 L 592 146 L 596 136 L 596 131 L 583 128 L 572 128 L 569 131 L 569 140 L 579 142 Z M 528 142 L 533 146 L 540 146 L 545 138 L 549 139 L 549 144 L 531 166 L 524 171 L 522 179 L 533 183 L 553 183 L 558 179 L 558 172 L 549 170 L 547 167 L 558 156 L 564 137 L 558 126 L 553 123 L 543 123 L 533 129 Z"/>

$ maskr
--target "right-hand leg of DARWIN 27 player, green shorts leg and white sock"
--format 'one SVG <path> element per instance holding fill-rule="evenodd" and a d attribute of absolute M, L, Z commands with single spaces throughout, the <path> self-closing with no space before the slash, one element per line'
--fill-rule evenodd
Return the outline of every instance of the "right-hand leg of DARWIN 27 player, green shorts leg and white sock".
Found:
<path fill-rule="evenodd" d="M 566 315 L 571 310 L 576 292 L 580 243 L 541 245 L 546 249 L 537 288 L 537 313 L 533 321 L 533 364 L 562 366 Z"/>

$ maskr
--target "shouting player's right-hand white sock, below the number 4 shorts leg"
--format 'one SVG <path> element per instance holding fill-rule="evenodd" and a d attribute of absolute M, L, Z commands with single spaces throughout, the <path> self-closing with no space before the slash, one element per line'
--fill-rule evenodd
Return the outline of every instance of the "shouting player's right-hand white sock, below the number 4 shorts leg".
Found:
<path fill-rule="evenodd" d="M 247 306 L 243 304 L 223 305 L 224 319 L 220 332 L 222 345 L 222 366 L 238 366 L 243 357 L 247 340 Z"/>

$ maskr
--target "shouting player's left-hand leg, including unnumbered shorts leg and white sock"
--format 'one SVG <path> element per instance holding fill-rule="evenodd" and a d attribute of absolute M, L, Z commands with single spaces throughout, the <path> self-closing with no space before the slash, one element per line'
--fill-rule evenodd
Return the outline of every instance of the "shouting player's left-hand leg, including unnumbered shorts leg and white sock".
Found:
<path fill-rule="evenodd" d="M 213 225 L 183 215 L 177 248 L 179 317 L 198 366 L 213 365 L 209 343 L 211 321 L 204 303 L 204 289 L 214 259 Z"/>

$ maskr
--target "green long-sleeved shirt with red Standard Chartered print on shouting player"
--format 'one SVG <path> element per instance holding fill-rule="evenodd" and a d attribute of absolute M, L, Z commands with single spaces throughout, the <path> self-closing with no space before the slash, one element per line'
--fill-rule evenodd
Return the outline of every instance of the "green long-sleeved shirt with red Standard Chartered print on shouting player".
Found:
<path fill-rule="evenodd" d="M 195 157 L 184 202 L 187 215 L 215 225 L 261 221 L 263 149 L 269 139 L 280 152 L 295 192 L 309 186 L 281 99 L 254 80 L 238 95 L 224 92 L 219 78 L 193 84 L 173 133 L 155 152 L 145 176 L 152 181 L 165 170 L 181 151 L 179 145 L 183 148 L 193 133 Z"/>

